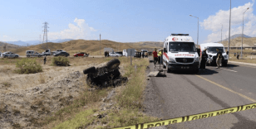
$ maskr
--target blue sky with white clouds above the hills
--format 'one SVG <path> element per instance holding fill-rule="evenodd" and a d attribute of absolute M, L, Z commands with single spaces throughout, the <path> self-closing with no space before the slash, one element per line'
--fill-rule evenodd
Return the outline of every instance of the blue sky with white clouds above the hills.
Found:
<path fill-rule="evenodd" d="M 232 31 L 256 36 L 254 1 L 232 1 Z M 101 39 L 121 42 L 164 41 L 171 33 L 188 33 L 199 43 L 228 36 L 229 1 L 215 0 L 17 0 L 0 4 L 0 41 L 39 40 L 43 22 L 49 23 L 48 39 Z"/>

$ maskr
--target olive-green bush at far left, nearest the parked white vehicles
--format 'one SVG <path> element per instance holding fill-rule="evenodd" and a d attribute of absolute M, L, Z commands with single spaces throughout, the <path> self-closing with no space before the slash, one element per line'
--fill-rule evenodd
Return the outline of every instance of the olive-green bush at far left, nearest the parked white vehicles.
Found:
<path fill-rule="evenodd" d="M 35 59 L 23 58 L 22 60 L 17 60 L 15 72 L 18 74 L 34 74 L 42 72 L 42 66 L 37 64 Z"/>

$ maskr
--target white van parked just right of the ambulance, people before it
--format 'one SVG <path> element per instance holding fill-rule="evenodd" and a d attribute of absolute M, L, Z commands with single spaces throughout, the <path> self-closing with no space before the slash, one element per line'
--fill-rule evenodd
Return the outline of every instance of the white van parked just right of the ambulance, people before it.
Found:
<path fill-rule="evenodd" d="M 204 43 L 200 45 L 200 50 L 206 50 L 206 54 L 208 55 L 207 61 L 206 61 L 206 65 L 216 65 L 216 59 L 217 59 L 217 50 L 219 49 L 222 52 L 223 55 L 223 59 L 221 61 L 220 66 L 227 66 L 228 65 L 228 55 L 229 52 L 225 51 L 224 45 L 221 43 Z"/>

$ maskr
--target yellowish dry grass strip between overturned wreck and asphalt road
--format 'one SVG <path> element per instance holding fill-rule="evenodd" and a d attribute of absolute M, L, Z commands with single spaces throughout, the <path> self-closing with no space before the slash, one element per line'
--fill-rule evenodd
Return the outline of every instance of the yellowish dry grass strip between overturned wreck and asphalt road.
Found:
<path fill-rule="evenodd" d="M 111 58 L 102 59 L 105 61 L 111 60 Z M 106 111 L 99 111 L 98 103 L 101 98 L 106 97 L 108 91 L 111 88 L 103 88 L 96 90 L 96 92 L 89 92 L 89 94 L 83 93 L 81 98 L 76 98 L 76 101 L 68 108 L 64 108 L 57 112 L 55 117 L 48 118 L 47 122 L 50 123 L 47 128 L 102 128 L 105 124 L 107 128 L 127 126 L 136 124 L 139 122 L 152 122 L 159 120 L 155 117 L 148 117 L 142 112 L 143 91 L 145 88 L 145 68 L 148 65 L 148 60 L 133 60 L 134 63 L 130 66 L 130 59 L 126 57 L 120 58 L 122 67 L 125 68 L 127 76 L 130 77 L 129 83 L 126 87 L 121 87 L 118 95 L 114 101 L 116 101 L 116 107 L 120 109 L 112 109 Z M 134 65 L 137 65 L 135 72 Z M 86 87 L 86 85 L 85 85 Z M 81 107 L 88 106 L 83 109 Z M 106 114 L 107 117 L 98 119 L 93 116 L 94 113 Z M 95 126 L 98 123 L 98 126 Z M 50 126 L 51 125 L 51 126 Z M 57 126 L 56 126 L 57 125 Z"/>

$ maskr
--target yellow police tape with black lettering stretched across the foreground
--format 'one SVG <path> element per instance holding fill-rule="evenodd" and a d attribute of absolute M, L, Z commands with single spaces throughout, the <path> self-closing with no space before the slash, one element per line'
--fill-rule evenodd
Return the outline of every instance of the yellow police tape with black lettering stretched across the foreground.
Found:
<path fill-rule="evenodd" d="M 231 112 L 240 112 L 240 111 L 249 110 L 253 108 L 256 108 L 256 103 L 242 105 L 234 108 L 226 108 L 226 109 L 217 110 L 213 112 L 204 112 L 204 113 L 185 116 L 185 117 L 177 117 L 177 118 L 172 118 L 172 119 L 163 120 L 159 122 L 141 123 L 141 124 L 136 124 L 134 126 L 129 126 L 129 127 L 117 127 L 114 129 L 145 129 L 149 127 L 160 127 L 160 126 L 170 125 L 170 124 L 179 123 L 179 122 L 193 121 L 193 120 L 201 119 L 205 117 L 214 117 L 214 116 L 224 115 Z"/>

